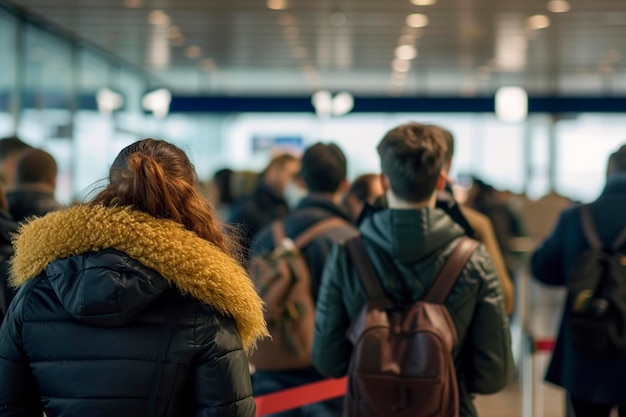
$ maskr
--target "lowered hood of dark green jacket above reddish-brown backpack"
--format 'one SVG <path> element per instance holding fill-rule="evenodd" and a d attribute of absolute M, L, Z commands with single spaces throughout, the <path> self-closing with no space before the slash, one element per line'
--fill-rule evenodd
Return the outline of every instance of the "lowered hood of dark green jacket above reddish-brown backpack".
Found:
<path fill-rule="evenodd" d="M 361 232 L 403 263 L 417 262 L 464 234 L 443 210 L 428 207 L 381 210 L 363 221 Z"/>

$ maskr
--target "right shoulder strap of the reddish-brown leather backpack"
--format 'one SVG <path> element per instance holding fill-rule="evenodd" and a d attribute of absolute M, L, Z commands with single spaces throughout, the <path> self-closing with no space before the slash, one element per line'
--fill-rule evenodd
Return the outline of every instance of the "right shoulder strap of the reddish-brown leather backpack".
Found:
<path fill-rule="evenodd" d="M 424 297 L 424 301 L 435 304 L 443 304 L 456 283 L 463 267 L 469 261 L 472 254 L 478 249 L 480 243 L 468 237 L 462 237 L 446 260 L 439 274 L 435 278 L 432 287 Z"/>

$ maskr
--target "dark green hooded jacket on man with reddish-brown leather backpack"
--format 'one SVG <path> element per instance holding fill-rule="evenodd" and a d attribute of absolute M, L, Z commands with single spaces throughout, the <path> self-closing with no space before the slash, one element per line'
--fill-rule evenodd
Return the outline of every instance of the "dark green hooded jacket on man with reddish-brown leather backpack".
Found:
<path fill-rule="evenodd" d="M 382 210 L 360 227 L 367 254 L 387 295 L 400 303 L 421 299 L 451 254 L 463 229 L 440 209 Z M 346 332 L 367 295 L 346 253 L 334 248 L 317 303 L 313 364 L 323 374 L 348 371 L 352 345 Z M 511 335 L 500 282 L 481 246 L 446 300 L 460 343 L 454 349 L 461 416 L 476 411 L 470 393 L 502 389 L 513 375 Z"/>

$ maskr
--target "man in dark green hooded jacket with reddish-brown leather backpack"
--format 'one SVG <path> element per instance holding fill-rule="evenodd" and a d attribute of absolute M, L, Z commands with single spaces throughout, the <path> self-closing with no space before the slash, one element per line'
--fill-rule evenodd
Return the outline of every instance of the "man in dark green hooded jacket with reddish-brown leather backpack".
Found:
<path fill-rule="evenodd" d="M 312 360 L 348 374 L 345 416 L 475 416 L 472 394 L 513 375 L 502 289 L 488 252 L 435 207 L 441 129 L 409 123 L 378 146 L 388 209 L 328 257 Z"/>

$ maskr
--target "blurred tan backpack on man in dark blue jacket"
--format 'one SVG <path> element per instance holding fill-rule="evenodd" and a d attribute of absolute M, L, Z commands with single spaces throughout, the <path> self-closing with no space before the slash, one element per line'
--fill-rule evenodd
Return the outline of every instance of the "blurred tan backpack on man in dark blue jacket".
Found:
<path fill-rule="evenodd" d="M 259 342 L 250 357 L 257 369 L 311 366 L 315 305 L 311 275 L 301 251 L 332 229 L 348 225 L 345 220 L 331 217 L 290 239 L 285 234 L 282 220 L 272 223 L 274 250 L 253 258 L 249 270 L 257 292 L 265 302 L 265 320 L 271 335 Z"/>

